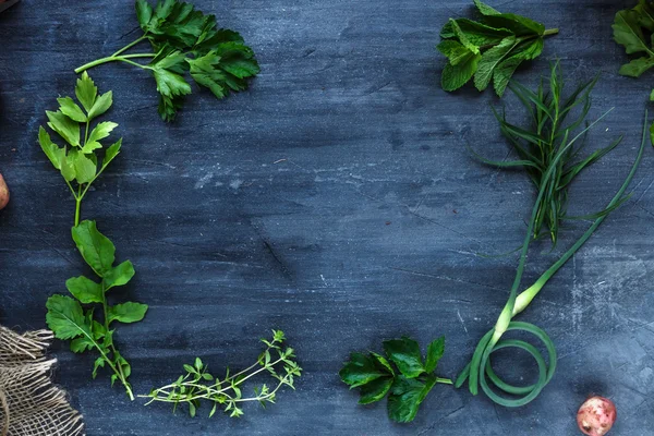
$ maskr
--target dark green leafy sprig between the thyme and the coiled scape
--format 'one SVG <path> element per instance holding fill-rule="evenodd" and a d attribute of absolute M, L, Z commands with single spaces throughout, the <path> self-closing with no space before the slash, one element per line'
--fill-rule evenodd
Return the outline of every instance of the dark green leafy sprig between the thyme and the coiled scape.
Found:
<path fill-rule="evenodd" d="M 419 343 L 407 337 L 384 341 L 384 351 L 388 360 L 374 352 L 350 354 L 350 361 L 339 375 L 350 389 L 360 389 L 360 404 L 388 397 L 388 417 L 392 421 L 413 421 L 420 404 L 437 383 L 452 384 L 448 378 L 434 375 L 445 352 L 445 337 L 429 344 L 424 363 Z M 389 361 L 397 366 L 397 372 Z"/>

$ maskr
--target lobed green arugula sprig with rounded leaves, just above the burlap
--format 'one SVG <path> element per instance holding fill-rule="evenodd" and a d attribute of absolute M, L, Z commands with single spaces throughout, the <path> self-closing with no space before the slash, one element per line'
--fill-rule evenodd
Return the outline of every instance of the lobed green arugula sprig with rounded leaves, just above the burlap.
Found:
<path fill-rule="evenodd" d="M 60 294 L 50 296 L 46 303 L 46 322 L 57 338 L 71 340 L 73 352 L 96 350 L 100 355 L 95 361 L 93 378 L 100 367 L 107 365 L 113 372 L 111 385 L 119 380 L 133 400 L 132 386 L 128 382 L 132 366 L 116 347 L 113 323 L 140 322 L 147 312 L 147 305 L 134 302 L 110 305 L 107 292 L 126 284 L 134 277 L 134 266 L 130 261 L 113 265 L 116 247 L 98 231 L 95 221 L 82 221 L 73 227 L 72 233 L 80 254 L 100 282 L 85 276 L 66 280 L 65 287 L 74 299 Z M 101 318 L 97 317 L 96 308 L 101 311 Z"/>

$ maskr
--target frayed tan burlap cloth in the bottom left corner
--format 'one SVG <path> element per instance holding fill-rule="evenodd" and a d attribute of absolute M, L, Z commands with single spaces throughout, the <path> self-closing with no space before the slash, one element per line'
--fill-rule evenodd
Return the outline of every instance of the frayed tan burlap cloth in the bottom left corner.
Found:
<path fill-rule="evenodd" d="M 84 435 L 82 415 L 50 380 L 57 361 L 45 352 L 51 340 L 48 330 L 19 335 L 0 326 L 1 436 Z"/>

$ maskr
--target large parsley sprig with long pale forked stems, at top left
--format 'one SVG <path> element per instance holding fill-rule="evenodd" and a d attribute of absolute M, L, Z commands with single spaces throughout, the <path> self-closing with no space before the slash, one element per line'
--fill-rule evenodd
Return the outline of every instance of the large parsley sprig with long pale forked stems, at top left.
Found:
<path fill-rule="evenodd" d="M 124 62 L 149 71 L 157 83 L 159 114 L 172 121 L 191 94 L 191 77 L 211 90 L 216 98 L 247 87 L 247 78 L 259 72 L 253 50 L 237 32 L 218 28 L 214 15 L 195 10 L 193 4 L 178 0 L 159 0 L 153 8 L 146 0 L 136 1 L 136 17 L 143 36 L 113 55 L 88 62 L 81 73 L 107 62 Z M 141 43 L 149 41 L 152 51 L 125 55 Z M 142 64 L 137 59 L 150 59 Z"/>

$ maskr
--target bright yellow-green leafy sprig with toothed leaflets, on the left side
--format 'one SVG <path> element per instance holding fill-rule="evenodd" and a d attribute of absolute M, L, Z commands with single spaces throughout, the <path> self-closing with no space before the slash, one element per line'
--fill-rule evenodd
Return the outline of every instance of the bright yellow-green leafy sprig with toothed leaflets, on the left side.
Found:
<path fill-rule="evenodd" d="M 112 94 L 98 94 L 98 88 L 87 73 L 82 74 L 75 86 L 75 95 L 80 107 L 71 97 L 58 98 L 59 109 L 46 111 L 48 126 L 64 141 L 57 145 L 48 131 L 40 126 L 38 142 L 50 162 L 61 172 L 75 198 L 75 226 L 80 223 L 80 206 L 88 189 L 105 171 L 107 166 L 118 156 L 122 138 L 105 150 L 104 158 L 99 152 L 105 147 L 101 143 L 118 126 L 111 121 L 102 121 L 94 125 L 94 120 L 105 113 L 112 104 Z M 93 128 L 93 129 L 92 129 Z"/>

